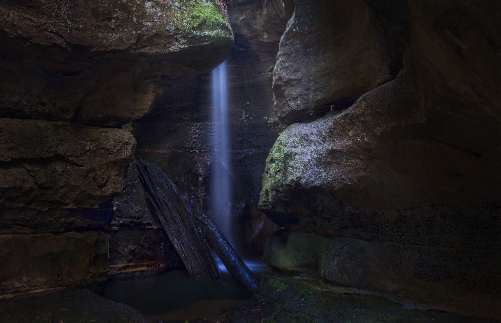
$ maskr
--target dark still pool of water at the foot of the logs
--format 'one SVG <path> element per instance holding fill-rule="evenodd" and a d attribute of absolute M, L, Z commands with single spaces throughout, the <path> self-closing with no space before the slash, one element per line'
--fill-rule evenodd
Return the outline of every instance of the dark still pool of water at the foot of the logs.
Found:
<path fill-rule="evenodd" d="M 245 261 L 258 277 L 266 269 L 260 261 Z M 138 280 L 109 282 L 103 296 L 155 316 L 189 308 L 194 304 L 220 300 L 248 299 L 252 291 L 239 286 L 222 263 L 221 281 L 192 278 L 184 271 L 170 271 Z"/>

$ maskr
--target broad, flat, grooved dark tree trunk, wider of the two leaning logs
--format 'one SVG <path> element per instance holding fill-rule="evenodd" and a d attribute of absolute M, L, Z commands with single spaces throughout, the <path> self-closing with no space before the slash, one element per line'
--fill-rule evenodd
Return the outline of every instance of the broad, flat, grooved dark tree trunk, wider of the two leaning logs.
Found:
<path fill-rule="evenodd" d="M 188 274 L 219 280 L 219 268 L 207 245 L 200 222 L 193 216 L 176 185 L 159 167 L 144 160 L 136 165 L 148 204 L 181 257 Z"/>

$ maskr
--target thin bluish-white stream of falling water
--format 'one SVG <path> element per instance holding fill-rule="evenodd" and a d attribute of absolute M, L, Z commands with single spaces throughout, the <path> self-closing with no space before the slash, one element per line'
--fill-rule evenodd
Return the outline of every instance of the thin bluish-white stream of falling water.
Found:
<path fill-rule="evenodd" d="M 212 71 L 213 162 L 211 170 L 211 211 L 226 239 L 234 245 L 231 218 L 231 162 L 229 152 L 228 93 L 226 62 Z"/>

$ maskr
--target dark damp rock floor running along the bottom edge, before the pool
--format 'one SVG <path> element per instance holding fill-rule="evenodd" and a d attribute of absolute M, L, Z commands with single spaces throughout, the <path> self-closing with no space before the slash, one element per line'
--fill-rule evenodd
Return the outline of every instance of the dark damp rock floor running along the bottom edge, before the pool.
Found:
<path fill-rule="evenodd" d="M 174 294 L 174 290 L 169 292 Z M 248 299 L 218 298 L 145 315 L 89 289 L 62 290 L 0 300 L 0 322 L 497 322 L 438 310 L 409 309 L 386 298 L 346 293 L 311 280 L 271 273 L 262 278 L 257 292 Z"/>

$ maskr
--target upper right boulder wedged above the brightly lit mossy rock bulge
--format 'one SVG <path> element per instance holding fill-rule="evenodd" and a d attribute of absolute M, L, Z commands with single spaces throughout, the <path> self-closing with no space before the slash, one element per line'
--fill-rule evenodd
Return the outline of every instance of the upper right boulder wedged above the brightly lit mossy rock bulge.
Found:
<path fill-rule="evenodd" d="M 346 108 L 394 78 L 392 64 L 364 1 L 296 1 L 273 73 L 275 112 L 290 124 Z"/>

